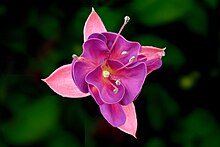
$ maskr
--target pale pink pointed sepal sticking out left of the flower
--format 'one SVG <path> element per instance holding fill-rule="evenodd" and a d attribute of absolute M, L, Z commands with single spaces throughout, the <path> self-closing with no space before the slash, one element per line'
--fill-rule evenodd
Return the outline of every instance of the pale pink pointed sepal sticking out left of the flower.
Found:
<path fill-rule="evenodd" d="M 57 94 L 69 98 L 81 98 L 88 96 L 89 93 L 83 93 L 74 84 L 71 75 L 72 65 L 63 65 L 56 69 L 49 77 L 42 79 Z"/>

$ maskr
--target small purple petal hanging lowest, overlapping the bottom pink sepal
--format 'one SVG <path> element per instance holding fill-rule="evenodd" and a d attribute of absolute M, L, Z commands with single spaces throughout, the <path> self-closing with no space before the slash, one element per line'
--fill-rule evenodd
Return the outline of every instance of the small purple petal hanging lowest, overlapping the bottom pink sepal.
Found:
<path fill-rule="evenodd" d="M 125 123 L 126 116 L 120 104 L 103 104 L 99 108 L 104 118 L 113 127 L 119 127 Z"/>

